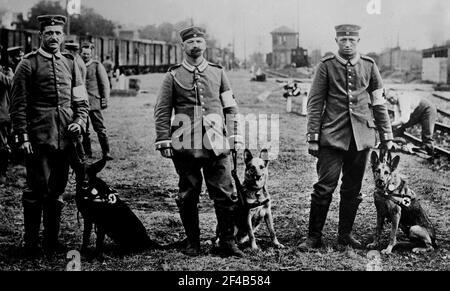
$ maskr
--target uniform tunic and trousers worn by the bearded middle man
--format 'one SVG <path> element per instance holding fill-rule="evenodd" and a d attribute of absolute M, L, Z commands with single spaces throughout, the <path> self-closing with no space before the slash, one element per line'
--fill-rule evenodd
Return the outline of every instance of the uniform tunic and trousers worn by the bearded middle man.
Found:
<path fill-rule="evenodd" d="M 222 67 L 206 60 L 194 67 L 185 60 L 166 74 L 155 105 L 156 145 L 172 143 L 180 176 L 178 201 L 198 201 L 201 168 L 212 199 L 231 197 L 228 140 L 240 138 L 237 113 Z"/>

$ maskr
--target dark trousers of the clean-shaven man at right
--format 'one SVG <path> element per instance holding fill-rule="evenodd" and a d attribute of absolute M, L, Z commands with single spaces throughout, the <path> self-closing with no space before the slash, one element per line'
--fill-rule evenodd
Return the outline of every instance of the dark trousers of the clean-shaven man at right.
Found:
<path fill-rule="evenodd" d="M 361 201 L 360 190 L 369 151 L 369 149 L 357 151 L 354 138 L 351 140 L 348 151 L 321 147 L 317 161 L 319 180 L 314 184 L 311 203 L 320 205 L 331 203 L 341 172 L 341 201 L 348 203 Z"/>

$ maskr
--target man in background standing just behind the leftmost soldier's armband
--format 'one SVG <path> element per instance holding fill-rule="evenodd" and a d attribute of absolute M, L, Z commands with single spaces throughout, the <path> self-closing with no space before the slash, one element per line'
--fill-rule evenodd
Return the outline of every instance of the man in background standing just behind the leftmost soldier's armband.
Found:
<path fill-rule="evenodd" d="M 110 86 L 105 68 L 99 61 L 92 59 L 92 49 L 93 45 L 91 43 L 83 43 L 81 46 L 81 57 L 87 68 L 86 89 L 89 95 L 90 106 L 89 120 L 86 132 L 83 134 L 83 148 L 86 155 L 92 156 L 91 139 L 89 138 L 89 124 L 92 123 L 94 131 L 97 133 L 103 158 L 112 160 L 102 115 L 102 110 L 108 107 Z"/>

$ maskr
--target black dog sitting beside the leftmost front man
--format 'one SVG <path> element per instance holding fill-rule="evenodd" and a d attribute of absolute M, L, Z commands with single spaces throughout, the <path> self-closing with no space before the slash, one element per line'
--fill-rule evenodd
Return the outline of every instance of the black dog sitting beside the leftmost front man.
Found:
<path fill-rule="evenodd" d="M 146 249 L 160 249 L 152 241 L 139 218 L 123 202 L 117 191 L 97 177 L 106 164 L 102 159 L 93 164 L 79 163 L 75 166 L 76 196 L 78 211 L 84 220 L 82 252 L 90 244 L 92 227 L 96 226 L 95 254 L 103 258 L 103 243 L 108 235 L 121 252 L 138 252 Z"/>

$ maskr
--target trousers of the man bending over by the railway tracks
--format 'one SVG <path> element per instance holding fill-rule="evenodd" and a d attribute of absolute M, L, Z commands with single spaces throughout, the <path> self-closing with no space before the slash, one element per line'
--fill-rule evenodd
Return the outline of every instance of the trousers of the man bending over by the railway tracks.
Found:
<path fill-rule="evenodd" d="M 436 106 L 427 99 L 422 99 L 419 106 L 411 113 L 409 121 L 400 128 L 400 132 L 404 132 L 408 127 L 420 124 L 422 126 L 422 142 L 424 144 L 431 144 L 433 143 L 436 118 Z"/>

